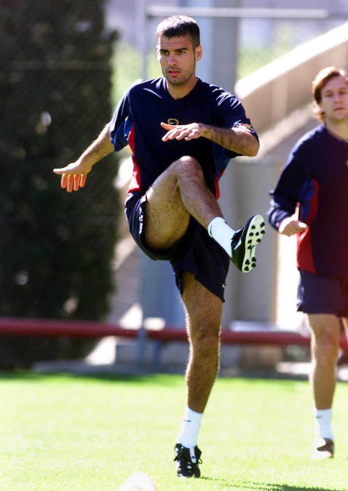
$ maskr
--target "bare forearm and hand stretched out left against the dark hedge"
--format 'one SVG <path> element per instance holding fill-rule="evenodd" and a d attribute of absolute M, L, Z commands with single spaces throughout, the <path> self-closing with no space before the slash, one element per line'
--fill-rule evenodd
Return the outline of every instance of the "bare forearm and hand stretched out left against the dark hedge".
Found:
<path fill-rule="evenodd" d="M 76 162 L 61 169 L 53 169 L 55 174 L 61 175 L 61 187 L 67 189 L 68 193 L 83 188 L 86 182 L 86 176 L 92 170 L 94 164 L 99 162 L 113 149 L 114 147 L 109 138 L 107 124 L 101 131 L 99 137 L 86 148 Z"/>

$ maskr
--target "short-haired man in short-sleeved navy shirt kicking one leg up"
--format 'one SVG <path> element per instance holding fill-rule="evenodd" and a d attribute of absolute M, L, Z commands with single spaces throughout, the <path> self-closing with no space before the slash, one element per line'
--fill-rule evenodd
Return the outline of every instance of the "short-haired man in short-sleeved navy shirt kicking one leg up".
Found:
<path fill-rule="evenodd" d="M 62 188 L 77 191 L 106 154 L 132 149 L 129 231 L 149 257 L 170 261 L 186 310 L 190 358 L 177 474 L 200 477 L 197 440 L 219 367 L 228 267 L 232 261 L 250 271 L 265 233 L 260 215 L 237 231 L 227 225 L 217 204 L 219 179 L 229 159 L 254 156 L 259 144 L 241 102 L 195 75 L 202 47 L 193 19 L 172 16 L 159 24 L 157 56 L 163 77 L 130 86 L 98 139 L 75 163 L 54 171 L 62 174 Z"/>

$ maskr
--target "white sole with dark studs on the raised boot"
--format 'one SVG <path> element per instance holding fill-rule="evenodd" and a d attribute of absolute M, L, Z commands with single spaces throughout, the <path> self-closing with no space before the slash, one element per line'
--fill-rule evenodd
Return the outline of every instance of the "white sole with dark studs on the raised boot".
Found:
<path fill-rule="evenodd" d="M 244 244 L 244 257 L 242 261 L 241 271 L 242 273 L 248 273 L 256 266 L 255 249 L 256 245 L 261 242 L 263 235 L 265 234 L 265 220 L 262 215 L 254 215 L 249 221 L 247 221 L 241 235 L 240 241 L 236 245 L 234 250 L 238 247 L 243 247 Z M 238 261 L 239 262 L 239 261 Z M 238 267 L 238 266 L 237 266 Z"/>

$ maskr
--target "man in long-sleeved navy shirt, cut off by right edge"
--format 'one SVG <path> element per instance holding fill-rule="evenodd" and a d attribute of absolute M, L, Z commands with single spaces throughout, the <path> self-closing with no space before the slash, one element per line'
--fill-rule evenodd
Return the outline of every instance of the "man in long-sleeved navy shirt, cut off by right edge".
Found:
<path fill-rule="evenodd" d="M 313 81 L 322 124 L 291 151 L 271 192 L 270 224 L 297 234 L 298 310 L 312 332 L 315 439 L 312 457 L 333 457 L 331 408 L 340 327 L 348 318 L 348 77 L 333 66 Z M 298 214 L 295 210 L 298 207 Z"/>

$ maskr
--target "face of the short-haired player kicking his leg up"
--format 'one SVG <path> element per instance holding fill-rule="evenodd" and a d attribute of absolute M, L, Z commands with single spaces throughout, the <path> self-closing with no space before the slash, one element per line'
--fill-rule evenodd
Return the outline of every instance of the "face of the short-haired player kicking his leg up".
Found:
<path fill-rule="evenodd" d="M 168 88 L 193 87 L 197 81 L 195 65 L 202 57 L 202 47 L 193 49 L 189 35 L 171 38 L 159 36 L 157 42 L 157 59 Z"/>

